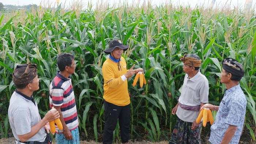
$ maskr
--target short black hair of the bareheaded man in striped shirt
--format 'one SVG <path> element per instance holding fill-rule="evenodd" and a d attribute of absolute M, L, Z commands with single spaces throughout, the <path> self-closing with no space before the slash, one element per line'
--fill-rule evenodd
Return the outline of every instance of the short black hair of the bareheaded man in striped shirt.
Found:
<path fill-rule="evenodd" d="M 57 65 L 60 71 L 64 71 L 66 66 L 71 66 L 75 56 L 69 53 L 61 53 L 57 58 Z"/>

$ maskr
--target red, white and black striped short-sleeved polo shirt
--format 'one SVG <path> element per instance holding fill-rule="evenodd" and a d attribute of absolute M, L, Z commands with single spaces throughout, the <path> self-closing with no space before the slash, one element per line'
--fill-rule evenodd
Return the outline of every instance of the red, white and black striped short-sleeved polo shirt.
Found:
<path fill-rule="evenodd" d="M 61 106 L 61 113 L 69 130 L 78 127 L 78 116 L 71 78 L 65 78 L 59 71 L 50 84 L 50 108 L 52 106 Z M 58 132 L 61 133 L 63 131 L 59 130 Z"/>

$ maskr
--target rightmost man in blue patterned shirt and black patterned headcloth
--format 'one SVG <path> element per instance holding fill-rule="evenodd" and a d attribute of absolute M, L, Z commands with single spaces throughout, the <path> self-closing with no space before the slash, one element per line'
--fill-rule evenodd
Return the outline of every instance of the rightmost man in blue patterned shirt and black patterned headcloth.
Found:
<path fill-rule="evenodd" d="M 239 85 L 243 76 L 242 65 L 235 59 L 226 58 L 222 61 L 221 83 L 227 88 L 224 97 L 219 106 L 206 104 L 202 107 L 218 111 L 211 126 L 209 141 L 212 144 L 239 142 L 246 110 L 246 98 Z"/>

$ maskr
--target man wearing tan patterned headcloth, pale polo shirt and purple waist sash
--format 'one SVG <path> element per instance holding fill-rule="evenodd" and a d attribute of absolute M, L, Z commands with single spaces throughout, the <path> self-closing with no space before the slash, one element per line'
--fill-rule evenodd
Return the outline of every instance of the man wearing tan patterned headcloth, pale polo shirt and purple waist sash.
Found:
<path fill-rule="evenodd" d="M 178 119 L 169 144 L 199 144 L 202 123 L 197 124 L 196 118 L 200 107 L 208 103 L 208 80 L 200 73 L 201 60 L 196 54 L 185 54 L 181 61 L 186 74 L 178 104 L 172 109 Z"/>

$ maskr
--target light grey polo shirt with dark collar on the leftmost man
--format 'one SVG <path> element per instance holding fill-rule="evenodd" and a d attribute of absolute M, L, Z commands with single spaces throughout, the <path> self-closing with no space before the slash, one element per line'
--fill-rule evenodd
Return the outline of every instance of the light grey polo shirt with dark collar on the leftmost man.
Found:
<path fill-rule="evenodd" d="M 41 121 L 37 103 L 33 101 L 33 97 L 28 97 L 18 91 L 15 91 L 11 96 L 8 118 L 12 134 L 16 140 L 20 140 L 18 135 L 25 135 L 31 132 L 31 127 Z M 27 141 L 43 142 L 46 135 L 45 129 L 42 127 Z"/>

